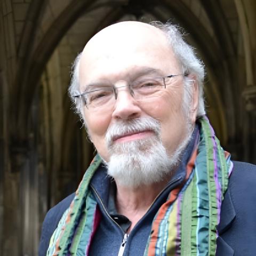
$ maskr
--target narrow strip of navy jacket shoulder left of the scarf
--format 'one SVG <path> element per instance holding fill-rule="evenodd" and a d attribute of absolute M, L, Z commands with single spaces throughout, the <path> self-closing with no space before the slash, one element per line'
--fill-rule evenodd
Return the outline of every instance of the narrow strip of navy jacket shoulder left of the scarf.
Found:
<path fill-rule="evenodd" d="M 41 238 L 38 248 L 39 256 L 46 255 L 51 236 L 54 230 L 57 228 L 62 214 L 68 209 L 74 197 L 75 193 L 69 195 L 47 212 L 42 225 Z"/>

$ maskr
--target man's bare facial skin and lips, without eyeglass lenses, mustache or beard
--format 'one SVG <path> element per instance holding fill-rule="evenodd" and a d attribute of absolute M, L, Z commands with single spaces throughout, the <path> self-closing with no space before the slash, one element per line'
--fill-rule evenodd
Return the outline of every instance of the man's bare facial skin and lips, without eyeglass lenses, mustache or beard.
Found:
<path fill-rule="evenodd" d="M 169 156 L 188 134 L 188 120 L 195 117 L 183 111 L 183 76 L 171 78 L 159 97 L 137 101 L 129 92 L 129 83 L 139 79 L 181 74 L 182 70 L 162 31 L 139 22 L 124 22 L 100 31 L 85 46 L 79 64 L 80 90 L 89 84 L 113 84 L 117 99 L 113 107 L 93 110 L 84 107 L 90 138 L 100 156 L 109 161 L 105 136 L 111 125 L 134 118 L 154 118 L 161 125 L 161 139 Z M 124 86 L 124 87 L 123 87 Z M 146 140 L 156 136 L 145 130 L 124 135 L 111 143 Z"/>

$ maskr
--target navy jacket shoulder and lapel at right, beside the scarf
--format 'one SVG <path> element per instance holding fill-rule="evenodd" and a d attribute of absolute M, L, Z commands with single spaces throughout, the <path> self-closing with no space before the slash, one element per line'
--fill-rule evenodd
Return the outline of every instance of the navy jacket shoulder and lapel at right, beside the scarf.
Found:
<path fill-rule="evenodd" d="M 221 205 L 216 255 L 252 256 L 256 251 L 256 166 L 233 163 Z M 225 248 L 229 253 L 223 253 Z"/>

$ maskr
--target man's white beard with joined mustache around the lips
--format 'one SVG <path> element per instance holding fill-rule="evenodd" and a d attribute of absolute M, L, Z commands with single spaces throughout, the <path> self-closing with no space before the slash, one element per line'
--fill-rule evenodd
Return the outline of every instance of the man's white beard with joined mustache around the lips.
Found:
<path fill-rule="evenodd" d="M 146 139 L 113 143 L 113 138 L 125 133 L 151 130 L 154 135 Z M 137 118 L 116 123 L 109 127 L 106 142 L 110 153 L 106 163 L 108 174 L 119 185 L 137 188 L 163 181 L 173 173 L 179 157 L 190 136 L 181 143 L 171 156 L 168 156 L 161 140 L 161 126 L 154 118 Z"/>

